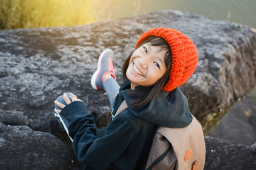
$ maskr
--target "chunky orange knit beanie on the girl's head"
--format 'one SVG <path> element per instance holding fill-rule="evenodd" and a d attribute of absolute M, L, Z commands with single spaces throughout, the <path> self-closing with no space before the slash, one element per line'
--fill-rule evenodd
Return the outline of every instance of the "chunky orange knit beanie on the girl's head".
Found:
<path fill-rule="evenodd" d="M 188 36 L 180 31 L 170 28 L 155 28 L 144 32 L 138 39 L 135 48 L 137 48 L 141 42 L 150 38 L 150 36 L 161 37 L 170 46 L 172 52 L 170 77 L 169 81 L 162 89 L 170 92 L 184 84 L 194 73 L 198 62 L 196 46 Z"/>

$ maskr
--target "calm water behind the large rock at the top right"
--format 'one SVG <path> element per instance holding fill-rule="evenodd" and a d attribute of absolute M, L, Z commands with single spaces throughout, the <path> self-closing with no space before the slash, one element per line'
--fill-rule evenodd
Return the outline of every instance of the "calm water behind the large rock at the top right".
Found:
<path fill-rule="evenodd" d="M 179 10 L 256 28 L 256 0 L 104 0 L 98 1 L 97 8 L 101 11 L 100 20 Z"/>

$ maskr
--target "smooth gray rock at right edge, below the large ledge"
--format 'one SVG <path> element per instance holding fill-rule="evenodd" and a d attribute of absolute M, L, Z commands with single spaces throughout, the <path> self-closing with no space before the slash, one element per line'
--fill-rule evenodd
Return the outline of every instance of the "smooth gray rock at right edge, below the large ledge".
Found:
<path fill-rule="evenodd" d="M 256 142 L 256 97 L 246 97 L 230 108 L 220 124 L 207 134 L 233 144 Z"/>

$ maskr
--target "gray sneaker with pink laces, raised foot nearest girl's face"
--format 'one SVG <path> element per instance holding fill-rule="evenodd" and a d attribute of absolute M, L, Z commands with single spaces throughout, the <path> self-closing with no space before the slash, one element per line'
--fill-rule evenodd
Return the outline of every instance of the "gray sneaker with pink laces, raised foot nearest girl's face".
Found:
<path fill-rule="evenodd" d="M 111 49 L 106 49 L 100 54 L 100 57 L 98 59 L 98 68 L 93 73 L 91 79 L 91 85 L 93 89 L 103 89 L 102 76 L 104 76 L 104 74 L 109 73 L 116 80 L 116 69 L 114 69 L 113 62 L 111 60 L 112 57 L 113 51 Z"/>

